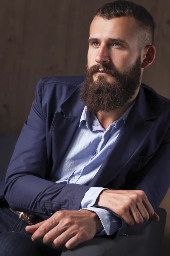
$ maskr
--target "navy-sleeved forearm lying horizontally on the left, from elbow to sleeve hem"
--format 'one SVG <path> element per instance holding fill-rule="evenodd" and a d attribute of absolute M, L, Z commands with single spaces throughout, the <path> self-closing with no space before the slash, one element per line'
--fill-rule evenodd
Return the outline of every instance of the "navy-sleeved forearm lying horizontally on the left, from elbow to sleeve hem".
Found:
<path fill-rule="evenodd" d="M 58 210 L 79 210 L 88 189 L 89 186 L 63 185 L 35 175 L 23 175 L 11 182 L 6 180 L 4 197 L 11 208 L 47 219 Z"/>

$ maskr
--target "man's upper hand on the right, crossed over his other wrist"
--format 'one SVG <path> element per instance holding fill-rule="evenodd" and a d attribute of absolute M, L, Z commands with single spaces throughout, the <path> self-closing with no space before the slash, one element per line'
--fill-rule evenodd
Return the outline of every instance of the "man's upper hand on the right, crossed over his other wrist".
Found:
<path fill-rule="evenodd" d="M 134 226 L 144 221 L 159 221 L 159 215 L 142 190 L 104 190 L 96 200 L 96 205 L 107 207 Z"/>

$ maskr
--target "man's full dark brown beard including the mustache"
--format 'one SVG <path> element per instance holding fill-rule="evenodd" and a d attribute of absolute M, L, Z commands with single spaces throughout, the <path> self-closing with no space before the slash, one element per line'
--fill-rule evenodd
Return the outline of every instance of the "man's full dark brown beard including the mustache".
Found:
<path fill-rule="evenodd" d="M 99 75 L 94 81 L 93 74 L 99 72 L 99 68 L 103 72 L 110 73 L 110 76 L 113 76 L 113 81 L 108 82 L 107 77 L 103 75 Z M 140 85 L 140 79 L 140 55 L 128 70 L 118 71 L 114 67 L 101 64 L 89 68 L 87 64 L 80 99 L 90 112 L 113 111 L 116 108 L 121 108 L 133 98 Z"/>

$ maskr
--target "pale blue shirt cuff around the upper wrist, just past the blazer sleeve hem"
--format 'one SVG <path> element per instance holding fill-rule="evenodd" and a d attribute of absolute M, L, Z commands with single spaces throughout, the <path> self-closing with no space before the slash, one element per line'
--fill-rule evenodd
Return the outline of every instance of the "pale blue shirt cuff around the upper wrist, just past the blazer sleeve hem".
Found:
<path fill-rule="evenodd" d="M 82 202 L 81 202 L 81 207 L 82 208 L 87 208 L 94 206 L 99 194 L 107 188 L 100 188 L 100 187 L 91 187 L 88 189 L 88 191 L 85 193 Z"/>

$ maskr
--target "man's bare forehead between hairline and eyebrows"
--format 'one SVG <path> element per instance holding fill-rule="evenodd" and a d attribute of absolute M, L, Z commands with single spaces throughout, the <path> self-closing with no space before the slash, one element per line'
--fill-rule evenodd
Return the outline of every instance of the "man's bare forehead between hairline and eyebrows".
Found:
<path fill-rule="evenodd" d="M 119 17 L 106 20 L 102 17 L 94 17 L 90 26 L 90 37 L 93 38 L 127 38 L 135 37 L 136 20 L 133 17 Z"/>

